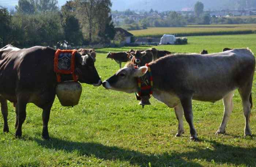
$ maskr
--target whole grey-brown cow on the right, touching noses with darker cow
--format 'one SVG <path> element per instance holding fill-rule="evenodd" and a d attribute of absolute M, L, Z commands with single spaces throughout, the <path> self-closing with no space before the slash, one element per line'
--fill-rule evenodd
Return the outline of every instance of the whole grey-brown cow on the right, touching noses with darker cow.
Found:
<path fill-rule="evenodd" d="M 190 127 L 192 140 L 198 140 L 193 125 L 192 99 L 215 102 L 223 99 L 224 115 L 216 132 L 225 133 L 227 120 L 233 110 L 233 94 L 240 93 L 245 116 L 244 135 L 251 135 L 249 117 L 252 108 L 252 81 L 255 58 L 247 48 L 207 55 L 174 54 L 148 64 L 153 77 L 153 97 L 174 108 L 178 119 L 178 133 L 184 133 L 183 112 Z M 102 83 L 106 89 L 126 93 L 138 91 L 137 77 L 148 67 L 135 69 L 127 64 Z"/>

